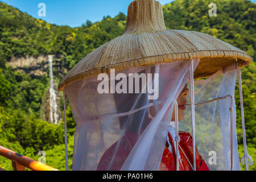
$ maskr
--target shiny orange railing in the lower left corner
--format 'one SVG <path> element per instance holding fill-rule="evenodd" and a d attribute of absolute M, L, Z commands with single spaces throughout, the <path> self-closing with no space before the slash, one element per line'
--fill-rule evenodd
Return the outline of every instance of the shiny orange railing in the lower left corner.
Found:
<path fill-rule="evenodd" d="M 15 171 L 26 171 L 26 168 L 31 169 L 32 171 L 59 171 L 2 146 L 0 146 L 0 155 L 12 161 Z"/>

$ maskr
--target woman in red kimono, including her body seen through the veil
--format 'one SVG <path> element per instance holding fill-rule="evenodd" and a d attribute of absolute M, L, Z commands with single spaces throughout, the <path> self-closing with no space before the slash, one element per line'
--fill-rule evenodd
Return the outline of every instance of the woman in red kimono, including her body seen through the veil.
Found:
<path fill-rule="evenodd" d="M 187 86 L 184 87 L 183 91 L 180 93 L 179 97 L 177 98 L 177 104 L 178 104 L 178 110 L 179 110 L 179 121 L 181 121 L 184 118 L 184 111 L 186 109 L 185 104 L 187 102 L 186 96 L 189 94 L 189 90 Z M 133 97 L 131 97 L 133 98 Z M 135 99 L 137 97 L 134 97 Z M 145 99 L 146 97 L 141 97 L 141 99 Z M 122 98 L 119 98 L 118 96 L 115 97 L 115 100 L 120 100 Z M 130 103 L 134 103 L 134 101 L 126 101 Z M 139 103 L 139 102 L 138 102 Z M 144 103 L 144 102 L 142 102 Z M 129 104 L 129 103 L 127 103 Z M 119 113 L 122 111 L 118 110 Z M 143 112 L 143 111 L 140 111 Z M 155 109 L 154 107 L 150 107 L 149 109 L 149 115 L 155 115 Z M 175 113 L 175 112 L 173 112 Z M 138 117 L 142 115 L 142 113 L 136 113 Z M 128 117 L 129 118 L 129 117 Z M 119 118 L 120 126 L 126 125 L 127 122 L 126 118 Z M 133 115 L 133 119 L 131 119 L 131 122 L 129 125 L 131 125 L 130 129 L 127 130 L 126 133 L 123 135 L 123 137 L 118 140 L 118 142 L 114 143 L 106 152 L 104 155 L 102 155 L 102 158 L 100 160 L 100 163 L 98 164 L 97 170 L 110 170 L 110 171 L 118 171 L 122 168 L 123 163 L 125 163 L 125 160 L 127 159 L 127 156 L 130 154 L 130 151 L 132 150 L 133 146 L 137 142 L 139 135 L 143 133 L 144 129 L 146 129 L 147 124 L 150 122 L 144 122 L 147 123 L 146 126 L 143 126 L 142 131 L 133 131 L 133 128 L 138 128 L 135 125 L 138 125 L 138 122 L 136 121 L 137 116 Z M 174 121 L 175 115 L 172 115 L 172 121 Z M 129 127 L 128 127 L 129 128 Z M 138 134 L 139 133 L 139 134 Z M 175 129 L 174 129 L 174 122 L 171 122 L 171 126 L 168 132 L 167 142 L 166 146 L 164 148 L 162 160 L 160 162 L 160 171 L 175 171 L 176 170 L 176 157 L 179 157 L 179 169 L 180 171 L 192 171 L 193 170 L 193 147 L 192 147 L 192 136 L 191 134 L 187 132 L 180 131 L 180 143 L 179 143 L 179 156 L 176 156 L 176 144 L 174 141 L 175 138 Z M 199 154 L 199 151 L 196 148 L 196 169 L 197 171 L 209 171 L 209 168 L 205 164 L 203 158 Z"/>

